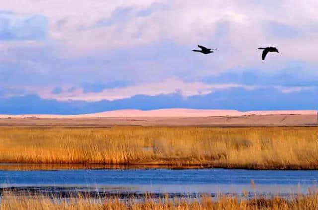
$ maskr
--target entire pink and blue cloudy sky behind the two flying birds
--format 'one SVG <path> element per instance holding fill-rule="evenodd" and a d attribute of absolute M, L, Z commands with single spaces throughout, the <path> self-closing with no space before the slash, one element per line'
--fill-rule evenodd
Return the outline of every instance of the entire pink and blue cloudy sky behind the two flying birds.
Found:
<path fill-rule="evenodd" d="M 317 0 L 10 0 L 0 114 L 318 107 Z M 213 54 L 192 52 L 201 44 Z M 276 46 L 261 60 L 258 47 Z"/>

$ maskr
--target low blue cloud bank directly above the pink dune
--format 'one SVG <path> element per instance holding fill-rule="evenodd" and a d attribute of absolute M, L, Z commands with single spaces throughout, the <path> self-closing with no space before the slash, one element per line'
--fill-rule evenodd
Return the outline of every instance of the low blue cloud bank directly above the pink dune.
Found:
<path fill-rule="evenodd" d="M 217 90 L 207 95 L 184 98 L 178 93 L 156 96 L 136 95 L 114 101 L 57 101 L 37 95 L 0 98 L 0 114 L 85 114 L 118 109 L 236 109 L 249 110 L 314 110 L 318 106 L 318 89 L 284 94 L 275 88 Z"/>

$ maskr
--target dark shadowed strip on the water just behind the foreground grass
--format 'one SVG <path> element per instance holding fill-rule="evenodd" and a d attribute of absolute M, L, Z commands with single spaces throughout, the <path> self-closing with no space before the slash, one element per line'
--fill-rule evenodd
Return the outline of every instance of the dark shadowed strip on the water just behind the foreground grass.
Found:
<path fill-rule="evenodd" d="M 0 195 L 10 195 L 10 196 L 48 196 L 51 198 L 87 198 L 87 199 L 145 199 L 145 198 L 202 198 L 202 196 L 210 196 L 216 198 L 218 196 L 226 197 L 236 197 L 236 198 L 254 198 L 257 197 L 266 197 L 273 198 L 275 196 L 280 196 L 283 198 L 295 197 L 298 193 L 260 193 L 248 191 L 244 193 L 196 193 L 196 192 L 178 192 L 178 193 L 154 193 L 154 192 L 134 192 L 134 191 L 125 191 L 125 189 L 120 188 L 111 188 L 111 189 L 102 189 L 102 188 L 80 188 L 80 187 L 56 187 L 56 186 L 47 186 L 47 187 L 8 187 L 0 188 Z"/>

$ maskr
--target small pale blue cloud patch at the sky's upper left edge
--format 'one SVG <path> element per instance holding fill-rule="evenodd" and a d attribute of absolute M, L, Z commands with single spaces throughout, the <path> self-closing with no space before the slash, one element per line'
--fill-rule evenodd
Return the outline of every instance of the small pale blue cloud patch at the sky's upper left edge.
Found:
<path fill-rule="evenodd" d="M 47 35 L 43 15 L 17 15 L 0 11 L 0 40 L 43 40 Z"/>

